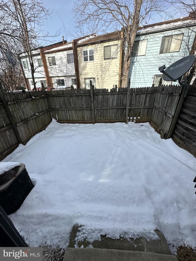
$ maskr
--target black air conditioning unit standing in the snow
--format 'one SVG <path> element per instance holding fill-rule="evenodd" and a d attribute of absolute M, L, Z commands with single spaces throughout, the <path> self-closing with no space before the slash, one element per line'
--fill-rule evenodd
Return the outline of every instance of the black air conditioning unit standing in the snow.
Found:
<path fill-rule="evenodd" d="M 7 215 L 16 212 L 34 187 L 23 163 L 0 175 L 0 206 Z"/>

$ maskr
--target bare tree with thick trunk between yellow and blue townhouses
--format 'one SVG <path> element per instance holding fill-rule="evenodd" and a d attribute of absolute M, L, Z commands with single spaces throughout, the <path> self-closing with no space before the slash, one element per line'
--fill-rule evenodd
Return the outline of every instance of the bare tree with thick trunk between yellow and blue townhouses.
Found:
<path fill-rule="evenodd" d="M 153 11 L 163 12 L 164 1 L 155 0 L 77 0 L 74 3 L 76 27 L 80 32 L 122 30 L 124 68 L 122 87 L 127 87 L 130 61 L 139 24 L 147 23 Z"/>

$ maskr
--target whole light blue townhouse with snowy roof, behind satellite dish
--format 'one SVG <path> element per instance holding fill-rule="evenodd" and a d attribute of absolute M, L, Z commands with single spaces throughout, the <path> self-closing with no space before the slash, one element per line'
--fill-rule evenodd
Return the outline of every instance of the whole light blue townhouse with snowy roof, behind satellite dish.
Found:
<path fill-rule="evenodd" d="M 195 33 L 195 18 L 191 14 L 189 17 L 139 27 L 130 63 L 130 86 L 158 86 L 162 77 L 158 70 L 160 66 L 165 64 L 168 67 L 194 54 Z M 162 80 L 162 84 L 171 83 Z"/>

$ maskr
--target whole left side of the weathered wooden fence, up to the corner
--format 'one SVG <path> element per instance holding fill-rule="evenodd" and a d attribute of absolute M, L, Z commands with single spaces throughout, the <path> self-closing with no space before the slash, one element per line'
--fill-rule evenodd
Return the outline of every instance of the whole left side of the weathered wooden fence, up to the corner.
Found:
<path fill-rule="evenodd" d="M 19 143 L 26 144 L 52 120 L 44 91 L 1 92 L 0 113 L 0 160 Z"/>

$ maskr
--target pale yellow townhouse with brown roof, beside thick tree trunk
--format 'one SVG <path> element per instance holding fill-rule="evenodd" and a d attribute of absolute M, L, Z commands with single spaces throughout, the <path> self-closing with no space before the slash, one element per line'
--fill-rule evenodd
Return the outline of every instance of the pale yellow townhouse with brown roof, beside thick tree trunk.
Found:
<path fill-rule="evenodd" d="M 77 50 L 77 88 L 112 89 L 119 87 L 122 62 L 121 31 L 74 41 Z"/>

